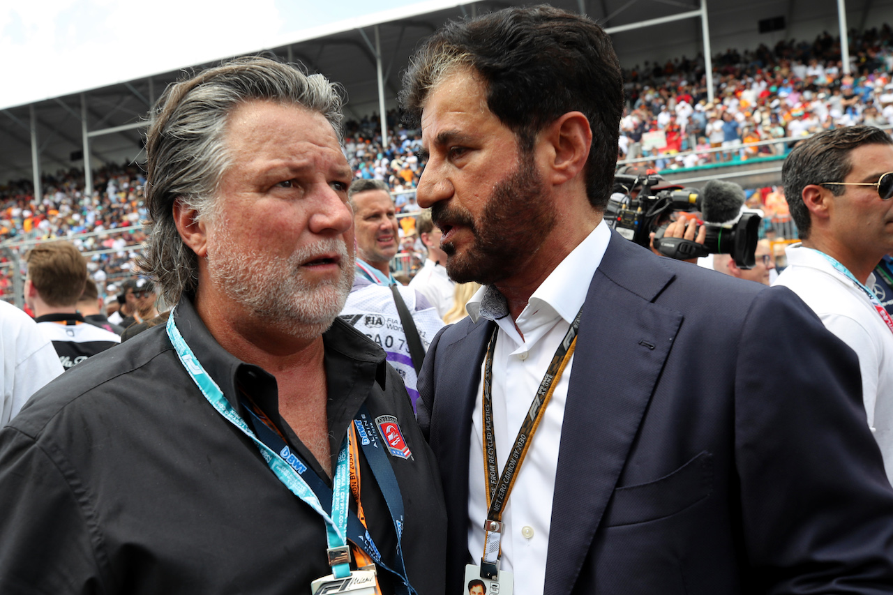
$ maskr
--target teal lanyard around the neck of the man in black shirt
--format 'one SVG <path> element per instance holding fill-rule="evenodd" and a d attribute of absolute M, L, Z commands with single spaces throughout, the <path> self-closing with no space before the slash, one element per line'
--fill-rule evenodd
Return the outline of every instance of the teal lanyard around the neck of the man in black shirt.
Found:
<path fill-rule="evenodd" d="M 189 376 L 196 383 L 198 390 L 202 391 L 204 398 L 223 415 L 230 423 L 235 425 L 248 438 L 250 438 L 257 448 L 261 451 L 263 460 L 270 466 L 271 471 L 276 477 L 285 484 L 285 486 L 299 499 L 309 505 L 317 514 L 321 515 L 326 523 L 326 541 L 329 549 L 339 549 L 347 547 L 347 511 L 350 498 L 350 470 L 347 461 L 347 439 L 341 444 L 341 450 L 338 452 L 338 463 L 335 471 L 335 479 L 332 483 L 332 514 L 327 515 L 320 505 L 320 500 L 316 498 L 316 494 L 310 489 L 310 486 L 304 481 L 304 478 L 298 474 L 295 469 L 286 463 L 279 453 L 272 450 L 263 441 L 258 440 L 255 432 L 247 426 L 238 412 L 230 405 L 230 401 L 223 396 L 223 391 L 213 381 L 211 376 L 204 371 L 204 367 L 196 358 L 196 355 L 189 348 L 183 336 L 179 334 L 177 324 L 173 322 L 175 310 L 171 310 L 171 316 L 167 322 L 168 337 L 171 338 L 173 348 L 177 351 L 180 363 L 186 368 Z M 350 575 L 350 564 L 336 564 L 332 566 L 332 574 L 335 578 L 346 578 Z"/>

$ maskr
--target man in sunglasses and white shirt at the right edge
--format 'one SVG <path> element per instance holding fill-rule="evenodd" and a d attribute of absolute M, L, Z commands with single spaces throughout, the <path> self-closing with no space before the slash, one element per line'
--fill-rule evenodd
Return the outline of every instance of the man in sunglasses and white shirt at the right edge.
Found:
<path fill-rule="evenodd" d="M 859 356 L 868 425 L 893 479 L 893 321 L 872 273 L 893 250 L 893 139 L 870 126 L 822 132 L 788 155 L 781 178 L 801 242 L 775 284 Z"/>

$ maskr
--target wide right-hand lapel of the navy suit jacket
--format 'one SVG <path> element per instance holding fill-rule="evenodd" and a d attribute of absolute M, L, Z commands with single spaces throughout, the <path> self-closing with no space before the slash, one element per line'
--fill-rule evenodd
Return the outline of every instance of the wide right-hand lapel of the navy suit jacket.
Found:
<path fill-rule="evenodd" d="M 572 591 L 682 322 L 652 303 L 673 274 L 641 250 L 612 233 L 589 284 L 564 409 L 545 595 Z"/>

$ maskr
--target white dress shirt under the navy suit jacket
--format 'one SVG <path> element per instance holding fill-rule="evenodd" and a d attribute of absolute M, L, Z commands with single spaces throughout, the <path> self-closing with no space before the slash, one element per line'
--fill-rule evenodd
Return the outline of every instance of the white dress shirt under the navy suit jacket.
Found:
<path fill-rule="evenodd" d="M 586 300 L 589 281 L 610 238 L 607 225 L 600 222 L 543 281 L 514 323 L 507 314 L 505 298 L 492 286 L 481 288 L 466 306 L 472 320 L 487 317 L 496 319 L 499 326 L 493 356 L 493 426 L 500 473 L 549 362 Z M 494 307 L 500 298 L 501 311 Z M 573 357 L 555 387 L 502 515 L 505 532 L 499 568 L 514 573 L 516 595 L 541 595 L 546 582 L 555 469 L 572 365 Z M 468 547 L 475 563 L 480 563 L 483 555 L 487 518 L 482 396 L 483 372 L 472 414 L 469 455 Z"/>

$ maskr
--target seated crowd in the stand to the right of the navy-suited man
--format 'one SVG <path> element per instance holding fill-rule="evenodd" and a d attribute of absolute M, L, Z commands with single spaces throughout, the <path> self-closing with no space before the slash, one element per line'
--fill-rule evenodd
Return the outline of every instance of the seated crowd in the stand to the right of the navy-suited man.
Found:
<path fill-rule="evenodd" d="M 852 31 L 850 73 L 839 38 L 782 40 L 714 56 L 714 100 L 703 56 L 645 63 L 625 71 L 627 109 L 621 159 L 653 157 L 649 166 L 678 169 L 783 156 L 797 138 L 840 126 L 893 123 L 893 30 Z M 792 138 L 776 144 L 760 141 Z M 727 149 L 710 151 L 710 149 Z"/>

